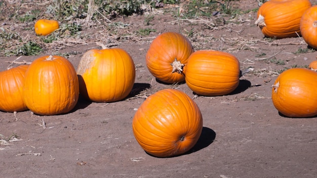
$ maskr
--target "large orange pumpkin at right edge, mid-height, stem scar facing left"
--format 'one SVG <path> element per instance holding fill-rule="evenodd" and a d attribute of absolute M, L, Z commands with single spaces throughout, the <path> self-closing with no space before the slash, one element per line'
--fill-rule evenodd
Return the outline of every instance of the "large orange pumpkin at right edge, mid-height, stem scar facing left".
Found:
<path fill-rule="evenodd" d="M 281 73 L 272 87 L 274 107 L 288 117 L 317 115 L 317 73 L 292 68 Z"/>

